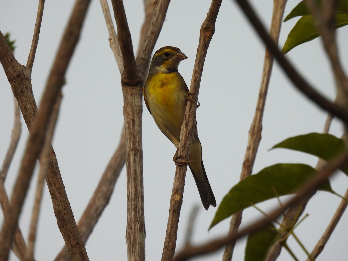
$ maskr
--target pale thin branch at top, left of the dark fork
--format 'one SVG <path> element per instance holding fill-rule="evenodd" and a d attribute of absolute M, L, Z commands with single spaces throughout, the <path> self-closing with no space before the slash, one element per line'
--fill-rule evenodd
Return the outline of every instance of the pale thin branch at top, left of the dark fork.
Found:
<path fill-rule="evenodd" d="M 115 28 L 113 27 L 113 23 L 111 20 L 109 5 L 108 5 L 108 2 L 106 0 L 100 0 L 100 4 L 102 6 L 106 27 L 108 27 L 110 47 L 111 47 L 111 50 L 112 50 L 113 55 L 115 57 L 116 63 L 118 65 L 118 69 L 119 69 L 120 73 L 122 74 L 122 72 L 123 72 L 123 60 L 122 60 L 122 55 L 121 55 L 121 50 L 120 50 L 118 38 L 117 38 Z"/>

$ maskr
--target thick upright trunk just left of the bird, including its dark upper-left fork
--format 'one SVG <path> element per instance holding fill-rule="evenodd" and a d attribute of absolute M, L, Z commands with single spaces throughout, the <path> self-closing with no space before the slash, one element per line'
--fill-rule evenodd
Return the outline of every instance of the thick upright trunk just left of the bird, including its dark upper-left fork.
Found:
<path fill-rule="evenodd" d="M 145 217 L 142 149 L 142 87 L 136 68 L 132 38 L 122 0 L 112 0 L 123 60 L 121 85 L 124 101 L 127 165 L 128 260 L 145 260 Z"/>

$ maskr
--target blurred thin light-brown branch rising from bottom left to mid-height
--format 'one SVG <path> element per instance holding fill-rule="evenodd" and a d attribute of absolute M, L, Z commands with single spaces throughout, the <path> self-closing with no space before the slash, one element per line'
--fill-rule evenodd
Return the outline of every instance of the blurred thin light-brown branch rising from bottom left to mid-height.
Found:
<path fill-rule="evenodd" d="M 34 255 L 33 255 L 34 244 L 35 244 L 36 230 L 37 230 L 37 224 L 39 219 L 42 191 L 44 189 L 44 181 L 47 175 L 48 165 L 51 162 L 51 155 L 50 155 L 51 142 L 53 139 L 54 129 L 56 127 L 61 99 L 62 99 L 62 93 L 59 94 L 56 100 L 56 103 L 53 106 L 52 115 L 49 119 L 49 124 L 47 127 L 47 134 L 46 134 L 44 148 L 42 149 L 42 153 L 40 156 L 40 170 L 39 170 L 38 181 L 37 181 L 38 183 L 37 183 L 36 192 L 35 192 L 34 206 L 33 206 L 33 211 L 32 211 L 31 221 L 30 221 L 28 249 L 27 249 L 27 252 L 25 253 L 26 261 L 34 260 Z"/>

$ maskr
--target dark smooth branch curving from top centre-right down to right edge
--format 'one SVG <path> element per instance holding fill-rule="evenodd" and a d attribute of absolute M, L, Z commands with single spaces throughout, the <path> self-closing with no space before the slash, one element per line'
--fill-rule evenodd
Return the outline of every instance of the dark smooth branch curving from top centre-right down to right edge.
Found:
<path fill-rule="evenodd" d="M 299 74 L 298 71 L 292 66 L 292 64 L 285 58 L 285 56 L 280 52 L 277 45 L 269 37 L 266 29 L 262 25 L 260 19 L 255 14 L 255 11 L 250 6 L 247 0 L 235 0 L 238 5 L 242 8 L 244 14 L 249 19 L 253 25 L 255 31 L 259 34 L 264 44 L 269 48 L 271 53 L 274 55 L 279 65 L 282 67 L 288 78 L 293 82 L 294 86 L 299 89 L 304 95 L 306 95 L 310 100 L 315 102 L 323 110 L 330 112 L 333 116 L 341 119 L 345 124 L 348 124 L 348 114 L 340 105 L 330 102 L 323 95 L 318 93 L 308 82 Z"/>

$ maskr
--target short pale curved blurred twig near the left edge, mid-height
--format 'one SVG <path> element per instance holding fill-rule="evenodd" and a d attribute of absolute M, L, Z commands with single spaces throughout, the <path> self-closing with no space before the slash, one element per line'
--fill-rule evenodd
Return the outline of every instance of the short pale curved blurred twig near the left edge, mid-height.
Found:
<path fill-rule="evenodd" d="M 15 117 L 13 120 L 13 128 L 11 133 L 10 144 L 8 146 L 5 158 L 2 163 L 1 171 L 0 171 L 0 179 L 2 183 L 5 183 L 6 175 L 10 167 L 11 161 L 13 159 L 13 155 L 16 152 L 19 137 L 21 136 L 21 132 L 22 132 L 21 111 L 19 109 L 18 102 L 15 98 L 13 98 L 13 104 L 14 104 Z"/>

